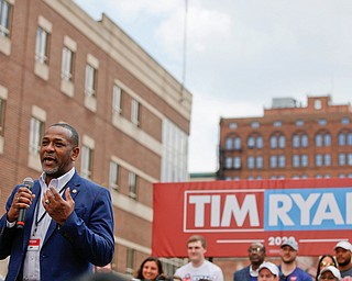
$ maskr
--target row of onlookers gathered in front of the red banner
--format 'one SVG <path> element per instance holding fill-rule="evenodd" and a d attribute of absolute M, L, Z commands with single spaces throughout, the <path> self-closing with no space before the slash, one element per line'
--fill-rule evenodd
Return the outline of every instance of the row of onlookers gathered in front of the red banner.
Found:
<path fill-rule="evenodd" d="M 235 271 L 233 281 L 352 281 L 351 244 L 339 241 L 333 250 L 334 255 L 320 257 L 316 277 L 311 277 L 297 266 L 297 241 L 288 239 L 280 245 L 279 265 L 266 261 L 265 246 L 255 241 L 249 247 L 250 265 Z M 191 236 L 187 240 L 189 263 L 177 269 L 173 277 L 167 278 L 161 261 L 150 257 L 142 262 L 134 280 L 223 281 L 222 270 L 205 258 L 206 251 L 205 238 Z"/>

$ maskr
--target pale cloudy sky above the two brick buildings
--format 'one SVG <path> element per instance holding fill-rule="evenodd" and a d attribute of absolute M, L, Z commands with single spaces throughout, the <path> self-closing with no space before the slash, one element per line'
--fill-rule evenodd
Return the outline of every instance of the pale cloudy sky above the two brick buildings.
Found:
<path fill-rule="evenodd" d="M 220 117 L 262 116 L 273 98 L 352 100 L 351 0 L 75 0 L 106 13 L 194 94 L 189 171 L 217 170 Z"/>

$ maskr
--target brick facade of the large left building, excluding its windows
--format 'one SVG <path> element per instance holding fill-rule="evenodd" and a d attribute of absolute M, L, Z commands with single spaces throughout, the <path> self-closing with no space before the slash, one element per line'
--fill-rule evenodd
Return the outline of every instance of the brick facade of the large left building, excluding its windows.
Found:
<path fill-rule="evenodd" d="M 0 50 L 0 98 L 6 100 L 0 203 L 4 206 L 13 187 L 25 177 L 40 176 L 29 166 L 33 112 L 45 113 L 45 127 L 62 121 L 74 125 L 81 140 L 87 135 L 95 142 L 91 180 L 109 189 L 111 157 L 119 161 L 119 190 L 111 189 L 117 238 L 113 269 L 125 273 L 128 248 L 135 251 L 135 266 L 151 250 L 152 183 L 162 177 L 163 121 L 189 135 L 191 94 L 186 92 L 182 100 L 182 85 L 105 15 L 95 22 L 72 0 L 8 1 L 12 4 L 10 36 L 0 35 L 0 44 L 10 45 L 9 54 Z M 41 24 L 51 27 L 48 79 L 35 72 L 36 30 Z M 67 36 L 77 46 L 72 97 L 63 92 L 61 76 Z M 88 56 L 99 63 L 96 111 L 85 105 Z M 114 120 L 111 104 L 117 80 L 122 88 L 122 111 Z M 140 104 L 139 125 L 131 123 L 132 100 Z M 80 159 L 76 169 L 80 171 Z M 131 171 L 138 177 L 136 199 L 129 196 Z"/>

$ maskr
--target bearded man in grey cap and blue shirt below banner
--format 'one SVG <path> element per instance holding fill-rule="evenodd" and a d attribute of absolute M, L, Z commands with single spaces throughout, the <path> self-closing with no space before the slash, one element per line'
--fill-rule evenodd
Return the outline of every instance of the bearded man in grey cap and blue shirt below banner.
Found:
<path fill-rule="evenodd" d="M 279 280 L 311 281 L 311 277 L 297 267 L 296 258 L 298 244 L 296 240 L 287 239 L 280 246 L 282 265 L 279 269 Z"/>

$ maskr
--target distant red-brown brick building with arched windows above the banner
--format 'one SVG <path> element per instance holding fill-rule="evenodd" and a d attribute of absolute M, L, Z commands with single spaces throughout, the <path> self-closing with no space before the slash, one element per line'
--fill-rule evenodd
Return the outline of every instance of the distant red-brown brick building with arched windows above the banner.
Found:
<path fill-rule="evenodd" d="M 221 119 L 219 150 L 219 180 L 352 177 L 351 105 L 274 99 L 264 116 Z"/>

